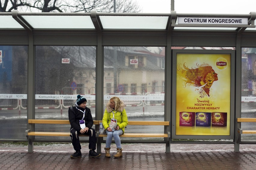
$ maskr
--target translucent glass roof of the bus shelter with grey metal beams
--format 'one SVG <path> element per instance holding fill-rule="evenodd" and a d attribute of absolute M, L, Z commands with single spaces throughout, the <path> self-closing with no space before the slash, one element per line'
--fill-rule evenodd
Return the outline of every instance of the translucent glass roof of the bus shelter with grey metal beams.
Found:
<path fill-rule="evenodd" d="M 244 18 L 248 23 L 205 24 L 179 23 L 179 18 L 188 17 L 189 21 L 198 18 Z M 184 14 L 176 13 L 21 13 L 17 10 L 0 13 L 1 29 L 26 30 L 147 30 L 166 31 L 169 29 L 182 30 L 236 30 L 246 28 L 255 30 L 256 13 L 249 14 Z"/>

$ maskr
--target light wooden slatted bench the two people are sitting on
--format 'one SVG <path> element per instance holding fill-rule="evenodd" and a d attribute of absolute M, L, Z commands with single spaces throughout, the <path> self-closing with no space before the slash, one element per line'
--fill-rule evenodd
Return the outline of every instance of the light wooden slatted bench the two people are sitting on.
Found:
<path fill-rule="evenodd" d="M 95 120 L 93 121 L 93 125 L 98 126 L 96 129 L 99 129 L 99 123 L 102 121 Z M 70 124 L 69 120 L 45 120 L 45 119 L 28 119 L 29 124 Z M 129 121 L 129 125 L 162 125 L 169 126 L 170 122 L 164 121 Z M 28 139 L 29 145 L 32 145 L 32 136 L 69 136 L 70 132 L 34 132 L 30 129 L 25 132 L 26 137 Z M 88 135 L 79 135 L 79 136 L 88 136 Z M 107 135 L 99 135 L 97 132 L 97 137 L 106 137 Z M 168 131 L 167 133 L 124 133 L 120 135 L 120 137 L 163 137 L 166 138 L 166 153 L 169 152 L 169 143 L 171 134 Z M 97 142 L 97 151 L 101 150 L 101 140 Z M 99 146 L 98 146 L 99 145 Z M 30 146 L 29 146 L 30 147 Z M 33 152 L 33 148 L 29 148 L 29 152 Z"/>

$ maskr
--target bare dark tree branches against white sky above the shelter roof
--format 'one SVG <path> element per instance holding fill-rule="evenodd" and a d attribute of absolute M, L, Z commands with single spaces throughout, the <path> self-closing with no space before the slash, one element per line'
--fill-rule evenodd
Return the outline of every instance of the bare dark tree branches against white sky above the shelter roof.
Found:
<path fill-rule="evenodd" d="M 0 12 L 113 12 L 114 0 L 0 0 Z M 116 12 L 137 13 L 136 0 L 116 0 Z"/>

